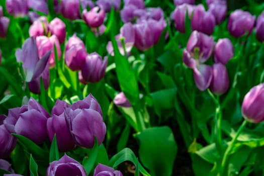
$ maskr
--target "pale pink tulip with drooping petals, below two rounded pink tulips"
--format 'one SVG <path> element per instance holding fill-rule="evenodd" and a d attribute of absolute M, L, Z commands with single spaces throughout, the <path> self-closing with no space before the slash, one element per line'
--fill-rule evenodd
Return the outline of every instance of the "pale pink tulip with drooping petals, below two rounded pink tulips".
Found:
<path fill-rule="evenodd" d="M 43 57 L 49 50 L 51 50 L 51 54 L 49 57 L 49 67 L 55 66 L 55 51 L 54 44 L 56 46 L 58 59 L 61 57 L 61 50 L 59 40 L 55 35 L 52 35 L 50 38 L 47 36 L 38 36 L 36 37 L 36 42 L 38 46 L 38 55 L 39 57 Z"/>

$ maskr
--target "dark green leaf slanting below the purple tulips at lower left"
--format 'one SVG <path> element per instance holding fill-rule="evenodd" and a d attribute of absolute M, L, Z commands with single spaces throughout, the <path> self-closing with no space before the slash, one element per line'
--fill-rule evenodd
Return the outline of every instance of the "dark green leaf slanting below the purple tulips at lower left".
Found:
<path fill-rule="evenodd" d="M 34 157 L 36 157 L 39 160 L 44 160 L 44 161 L 47 160 L 47 156 L 49 155 L 47 151 L 40 148 L 37 144 L 35 144 L 33 141 L 26 138 L 25 136 L 14 133 L 12 133 L 12 135 L 16 136 L 18 138 L 18 143 L 20 143 L 26 151 L 32 153 Z"/>

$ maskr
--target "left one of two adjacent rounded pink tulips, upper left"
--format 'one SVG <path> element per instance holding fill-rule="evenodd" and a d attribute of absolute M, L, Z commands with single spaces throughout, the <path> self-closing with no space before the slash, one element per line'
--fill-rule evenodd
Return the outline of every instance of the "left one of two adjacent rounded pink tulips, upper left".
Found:
<path fill-rule="evenodd" d="M 47 35 L 48 32 L 48 20 L 46 17 L 39 17 L 29 28 L 30 37 Z"/>

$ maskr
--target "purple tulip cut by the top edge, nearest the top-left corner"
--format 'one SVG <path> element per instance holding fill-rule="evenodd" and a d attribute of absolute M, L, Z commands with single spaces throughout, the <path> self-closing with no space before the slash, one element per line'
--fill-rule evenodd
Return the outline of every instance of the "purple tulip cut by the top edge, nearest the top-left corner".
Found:
<path fill-rule="evenodd" d="M 8 13 L 15 17 L 24 17 L 28 13 L 27 0 L 6 0 Z"/>

